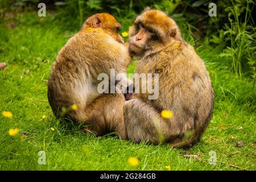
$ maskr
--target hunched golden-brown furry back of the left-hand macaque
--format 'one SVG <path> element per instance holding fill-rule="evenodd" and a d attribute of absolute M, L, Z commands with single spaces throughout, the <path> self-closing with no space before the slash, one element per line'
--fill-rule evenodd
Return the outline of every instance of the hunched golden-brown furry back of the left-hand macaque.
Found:
<path fill-rule="evenodd" d="M 61 107 L 73 104 L 85 109 L 86 104 L 100 95 L 98 74 L 109 73 L 110 68 L 125 72 L 129 64 L 123 61 L 125 56 L 129 57 L 127 49 L 101 30 L 79 32 L 69 39 L 49 75 L 48 101 L 53 113 L 59 117 Z"/>

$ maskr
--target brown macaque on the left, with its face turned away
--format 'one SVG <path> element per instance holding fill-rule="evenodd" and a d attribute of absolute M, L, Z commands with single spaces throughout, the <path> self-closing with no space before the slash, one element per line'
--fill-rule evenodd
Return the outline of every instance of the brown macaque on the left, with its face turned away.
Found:
<path fill-rule="evenodd" d="M 129 80 L 125 72 L 131 58 L 118 34 L 120 27 L 107 13 L 90 16 L 85 21 L 57 55 L 49 76 L 48 100 L 57 118 L 84 122 L 83 129 L 88 133 L 117 132 L 126 139 L 125 97 L 122 92 L 99 93 L 97 90 L 101 82 L 98 75 L 106 73 L 110 78 L 110 69 L 115 69 L 115 74 L 121 73 L 122 86 L 127 87 Z"/>

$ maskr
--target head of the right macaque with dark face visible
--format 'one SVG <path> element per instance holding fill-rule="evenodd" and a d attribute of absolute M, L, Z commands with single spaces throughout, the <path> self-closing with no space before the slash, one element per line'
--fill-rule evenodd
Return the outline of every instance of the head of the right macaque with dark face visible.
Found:
<path fill-rule="evenodd" d="M 174 20 L 158 10 L 144 10 L 129 30 L 129 52 L 143 56 L 146 52 L 160 49 L 171 39 L 181 39 Z"/>

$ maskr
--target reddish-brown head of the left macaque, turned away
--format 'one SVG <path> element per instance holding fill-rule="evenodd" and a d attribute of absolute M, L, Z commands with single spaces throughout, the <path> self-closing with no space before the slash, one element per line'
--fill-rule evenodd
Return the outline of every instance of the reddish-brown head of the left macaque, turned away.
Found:
<path fill-rule="evenodd" d="M 117 42 L 125 43 L 122 36 L 118 34 L 118 30 L 121 28 L 121 24 L 117 22 L 114 16 L 108 13 L 100 13 L 90 16 L 86 22 L 85 26 L 91 28 L 101 28 L 106 34 L 111 35 Z"/>

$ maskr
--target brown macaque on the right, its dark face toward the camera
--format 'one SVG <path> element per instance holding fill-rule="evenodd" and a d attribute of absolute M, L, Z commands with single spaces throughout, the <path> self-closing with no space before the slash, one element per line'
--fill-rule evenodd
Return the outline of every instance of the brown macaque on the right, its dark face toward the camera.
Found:
<path fill-rule="evenodd" d="M 214 92 L 209 73 L 194 48 L 181 38 L 173 19 L 159 10 L 145 9 L 129 30 L 129 51 L 140 58 L 135 73 L 158 73 L 159 95 L 134 93 L 125 102 L 127 137 L 136 142 L 190 147 L 208 126 Z M 141 84 L 135 84 L 135 89 Z M 163 117 L 168 110 L 172 117 Z M 171 116 L 171 115 L 170 115 Z"/>

